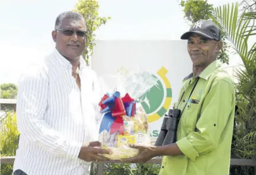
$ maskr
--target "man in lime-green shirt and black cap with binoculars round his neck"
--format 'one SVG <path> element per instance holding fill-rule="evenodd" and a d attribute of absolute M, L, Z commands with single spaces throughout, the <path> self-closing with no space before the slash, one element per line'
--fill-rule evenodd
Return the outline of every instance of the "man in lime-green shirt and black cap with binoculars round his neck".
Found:
<path fill-rule="evenodd" d="M 188 40 L 193 72 L 184 78 L 174 103 L 181 110 L 177 141 L 159 147 L 131 145 L 140 152 L 123 161 L 145 163 L 162 155 L 159 175 L 228 175 L 235 89 L 216 60 L 222 48 L 220 28 L 212 21 L 199 20 L 181 39 Z"/>

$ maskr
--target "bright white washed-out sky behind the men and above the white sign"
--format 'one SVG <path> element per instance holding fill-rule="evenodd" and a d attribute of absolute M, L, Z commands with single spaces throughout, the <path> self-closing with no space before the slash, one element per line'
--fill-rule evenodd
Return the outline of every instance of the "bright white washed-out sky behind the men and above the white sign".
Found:
<path fill-rule="evenodd" d="M 78 0 L 0 1 L 0 84 L 17 83 L 25 67 L 53 50 L 57 15 Z M 180 40 L 189 25 L 177 0 L 103 0 L 100 15 L 112 19 L 98 40 Z M 236 1 L 209 1 L 215 6 Z M 233 56 L 232 56 L 233 57 Z M 237 64 L 233 59 L 232 64 Z"/>

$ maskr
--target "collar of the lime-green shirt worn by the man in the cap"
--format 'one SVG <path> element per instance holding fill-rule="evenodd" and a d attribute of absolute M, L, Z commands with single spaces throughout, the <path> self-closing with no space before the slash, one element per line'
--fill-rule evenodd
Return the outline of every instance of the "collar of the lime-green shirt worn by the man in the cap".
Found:
<path fill-rule="evenodd" d="M 206 67 L 206 69 L 203 70 L 203 72 L 197 74 L 196 77 L 200 77 L 202 79 L 207 80 L 209 76 L 215 71 L 218 67 L 220 67 L 220 61 L 215 60 L 212 63 L 209 64 L 209 66 Z M 193 77 L 193 73 L 190 73 L 188 76 L 186 76 L 183 80 L 187 80 Z"/>

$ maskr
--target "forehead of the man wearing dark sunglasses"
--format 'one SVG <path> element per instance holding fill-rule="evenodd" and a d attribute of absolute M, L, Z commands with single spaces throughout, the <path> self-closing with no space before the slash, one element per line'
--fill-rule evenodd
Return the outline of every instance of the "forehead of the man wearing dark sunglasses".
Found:
<path fill-rule="evenodd" d="M 61 28 L 79 28 L 86 29 L 85 21 L 82 19 L 64 18 L 60 24 Z"/>

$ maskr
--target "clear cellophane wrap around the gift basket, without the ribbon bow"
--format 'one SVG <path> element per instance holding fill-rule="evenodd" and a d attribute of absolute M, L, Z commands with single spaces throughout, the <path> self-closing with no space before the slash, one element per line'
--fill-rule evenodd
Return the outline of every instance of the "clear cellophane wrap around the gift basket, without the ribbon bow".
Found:
<path fill-rule="evenodd" d="M 111 132 L 111 127 L 109 126 L 110 129 L 100 130 L 99 141 L 101 142 L 101 147 L 111 150 L 112 154 L 104 154 L 110 160 L 120 160 L 137 155 L 139 151 L 129 147 L 129 144 L 151 144 L 148 119 L 146 112 L 142 108 L 142 105 L 140 105 L 140 97 L 145 95 L 152 86 L 157 84 L 157 79 L 146 72 L 136 74 L 128 74 L 126 72 L 125 75 L 118 76 L 117 82 L 118 85 L 115 89 L 121 92 L 121 96 L 128 93 L 131 98 L 135 99 L 136 112 L 132 116 L 120 116 L 123 120 L 123 132 L 113 132 L 116 129 L 112 129 Z M 103 121 L 101 120 L 101 124 Z"/>

